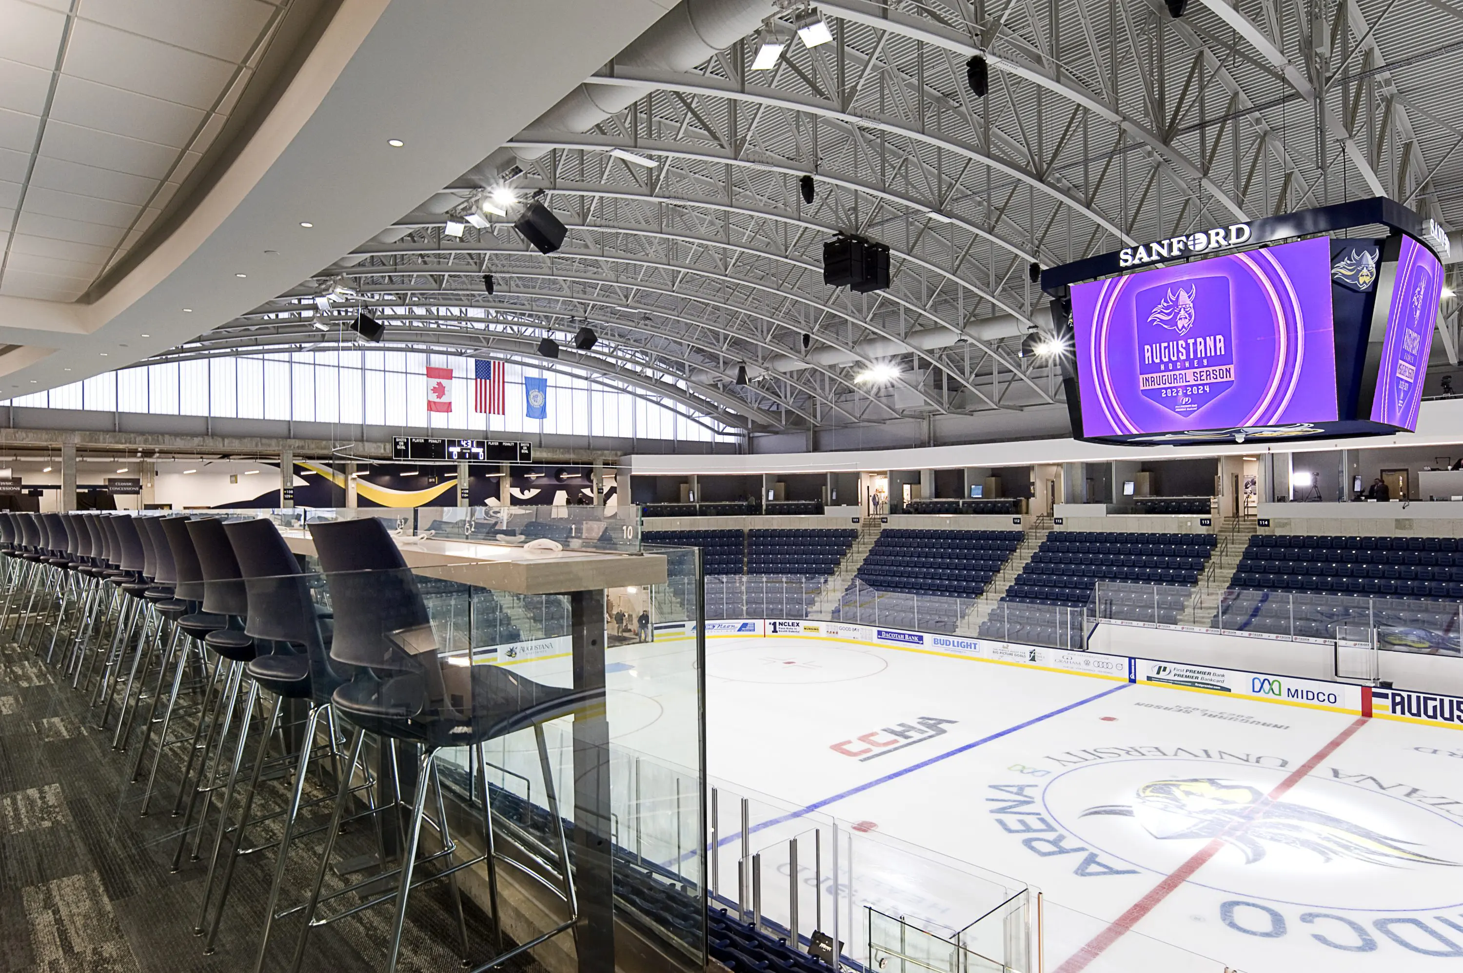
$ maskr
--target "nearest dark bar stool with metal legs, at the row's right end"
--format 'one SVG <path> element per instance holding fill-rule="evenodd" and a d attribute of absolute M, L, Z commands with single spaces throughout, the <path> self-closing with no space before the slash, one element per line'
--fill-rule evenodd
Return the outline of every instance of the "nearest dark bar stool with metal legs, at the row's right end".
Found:
<path fill-rule="evenodd" d="M 410 837 L 402 849 L 402 865 L 399 869 L 391 869 L 370 879 L 377 881 L 399 872 L 395 891 L 396 916 L 388 947 L 388 972 L 395 973 L 396 969 L 411 888 L 421 881 L 429 881 L 417 879 L 414 882 L 413 874 L 417 866 L 421 825 L 427 812 L 427 789 L 433 781 L 437 781 L 436 758 L 443 748 L 467 746 L 475 755 L 475 777 L 481 781 L 483 789 L 481 812 L 486 852 L 475 859 L 448 865 L 436 878 L 484 862 L 493 923 L 497 926 L 500 941 L 502 917 L 497 909 L 493 818 L 481 745 L 522 729 L 533 727 L 538 748 L 549 812 L 557 828 L 562 895 L 568 904 L 569 919 L 549 932 L 499 954 L 475 970 L 481 972 L 497 966 L 512 955 L 572 929 L 578 922 L 579 910 L 571 875 L 569 844 L 565 835 L 563 815 L 559 814 L 543 724 L 590 707 L 603 707 L 603 691 L 544 686 L 500 666 L 474 666 L 468 647 L 454 651 L 451 645 L 439 645 L 415 575 L 407 568 L 395 541 L 379 519 L 361 518 L 312 524 L 310 536 L 315 538 L 320 566 L 326 572 L 326 585 L 335 609 L 335 638 L 331 644 L 329 660 L 345 672 L 354 673 L 351 682 L 341 685 L 331 698 L 335 713 L 354 727 L 347 767 L 354 767 L 360 758 L 366 733 L 377 735 L 382 746 L 402 742 L 421 748 L 415 793 L 410 805 Z M 300 969 L 312 926 L 358 912 L 358 909 L 353 909 L 341 916 L 316 917 L 322 901 L 320 890 L 325 882 L 325 871 L 329 868 L 339 834 L 348 784 L 348 777 L 341 780 L 329 837 L 304 910 L 306 922 L 296 944 L 293 970 Z M 452 841 L 445 827 L 440 781 L 437 781 L 437 815 L 436 824 L 443 852 L 426 856 L 423 862 L 452 854 Z M 281 849 L 281 854 L 284 854 L 284 849 Z M 328 898 L 339 894 L 342 893 L 334 893 Z M 391 897 L 392 894 L 386 894 L 369 904 L 383 903 Z M 464 948 L 465 945 L 464 931 Z M 256 973 L 262 964 L 263 950 L 260 950 L 259 961 L 255 964 Z"/>

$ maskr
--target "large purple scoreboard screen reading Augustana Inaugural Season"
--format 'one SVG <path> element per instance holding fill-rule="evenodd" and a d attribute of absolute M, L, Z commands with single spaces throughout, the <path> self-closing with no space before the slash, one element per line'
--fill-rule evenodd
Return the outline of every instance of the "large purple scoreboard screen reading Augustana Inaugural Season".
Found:
<path fill-rule="evenodd" d="M 1337 418 L 1331 243 L 1072 285 L 1083 436 Z"/>

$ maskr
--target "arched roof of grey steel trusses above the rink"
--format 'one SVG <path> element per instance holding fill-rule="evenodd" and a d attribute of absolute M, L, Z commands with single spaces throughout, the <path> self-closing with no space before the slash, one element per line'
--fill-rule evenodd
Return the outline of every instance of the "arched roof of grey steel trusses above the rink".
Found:
<path fill-rule="evenodd" d="M 765 7 L 790 38 L 774 69 L 751 69 L 755 32 L 691 70 L 610 63 L 588 88 L 626 107 L 587 130 L 549 113 L 192 347 L 334 341 L 310 297 L 341 275 L 360 300 L 339 313 L 367 307 L 391 344 L 528 360 L 556 334 L 568 360 L 590 323 L 600 344 L 576 367 L 749 430 L 1040 410 L 1061 388 L 1050 360 L 1018 354 L 1048 322 L 1033 260 L 1374 195 L 1463 219 L 1463 102 L 1445 83 L 1463 69 L 1463 3 L 1189 0 L 1173 18 L 1163 0 L 831 0 L 816 9 L 834 40 L 813 48 L 793 37 L 803 6 Z M 983 98 L 973 54 L 990 67 Z M 562 250 L 530 249 L 512 209 L 443 234 L 505 171 L 569 228 Z M 822 282 L 834 231 L 890 244 L 887 291 Z M 1456 360 L 1454 301 L 1440 326 Z M 860 380 L 879 361 L 900 376 Z"/>

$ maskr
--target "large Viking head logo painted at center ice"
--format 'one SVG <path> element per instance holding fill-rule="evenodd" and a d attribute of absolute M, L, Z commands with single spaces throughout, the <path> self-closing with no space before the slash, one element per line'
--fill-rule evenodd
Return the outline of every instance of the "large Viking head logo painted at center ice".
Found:
<path fill-rule="evenodd" d="M 1270 800 L 1258 787 L 1229 780 L 1154 780 L 1138 787 L 1135 796 L 1135 805 L 1088 808 L 1083 816 L 1137 818 L 1159 840 L 1219 838 L 1244 852 L 1246 865 L 1265 856 L 1267 843 L 1314 852 L 1323 862 L 1349 859 L 1388 868 L 1457 865 L 1404 847 L 1410 841 L 1301 803 Z"/>

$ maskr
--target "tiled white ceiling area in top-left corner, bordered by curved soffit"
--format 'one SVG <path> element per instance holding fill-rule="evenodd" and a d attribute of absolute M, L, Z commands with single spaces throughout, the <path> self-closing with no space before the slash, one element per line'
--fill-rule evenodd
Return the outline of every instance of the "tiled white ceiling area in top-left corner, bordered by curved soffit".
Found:
<path fill-rule="evenodd" d="M 116 260 L 224 129 L 277 10 L 274 0 L 0 0 L 0 180 L 12 183 L 0 205 L 50 225 L 37 236 L 107 247 L 83 263 Z M 164 180 L 173 186 L 155 195 Z M 3 246 L 0 274 L 16 269 L 15 241 Z M 85 274 L 67 268 L 64 284 L 44 287 L 69 291 Z"/>

